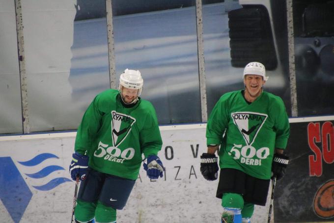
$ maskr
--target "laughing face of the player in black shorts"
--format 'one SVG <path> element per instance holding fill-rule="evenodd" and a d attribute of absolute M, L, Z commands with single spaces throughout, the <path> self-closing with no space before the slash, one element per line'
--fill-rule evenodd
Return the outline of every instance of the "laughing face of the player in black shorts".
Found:
<path fill-rule="evenodd" d="M 265 83 L 266 81 L 260 75 L 246 74 L 244 78 L 246 99 L 250 102 L 254 101 L 261 94 Z"/>

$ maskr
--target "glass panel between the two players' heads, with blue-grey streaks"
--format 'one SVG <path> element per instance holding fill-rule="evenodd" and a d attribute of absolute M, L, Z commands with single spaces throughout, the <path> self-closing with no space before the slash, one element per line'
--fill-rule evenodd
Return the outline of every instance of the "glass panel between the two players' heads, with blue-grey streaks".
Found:
<path fill-rule="evenodd" d="M 159 124 L 201 122 L 195 0 L 113 0 L 116 79 L 126 68 Z"/>

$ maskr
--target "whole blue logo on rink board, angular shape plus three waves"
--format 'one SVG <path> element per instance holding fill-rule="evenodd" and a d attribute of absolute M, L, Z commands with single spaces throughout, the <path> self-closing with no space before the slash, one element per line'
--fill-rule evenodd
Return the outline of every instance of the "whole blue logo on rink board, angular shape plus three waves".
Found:
<path fill-rule="evenodd" d="M 38 167 L 40 163 L 47 159 L 59 159 L 56 155 L 50 153 L 39 154 L 28 161 L 18 162 L 26 167 Z M 25 168 L 26 170 L 27 168 Z M 31 179 L 42 179 L 55 171 L 64 170 L 58 165 L 49 165 L 36 173 L 25 173 Z M 31 200 L 32 192 L 23 179 L 20 171 L 10 157 L 0 157 L 0 199 L 7 209 L 14 223 L 19 223 Z M 62 183 L 70 182 L 68 178 L 54 178 L 44 185 L 32 186 L 39 191 L 50 191 Z"/>

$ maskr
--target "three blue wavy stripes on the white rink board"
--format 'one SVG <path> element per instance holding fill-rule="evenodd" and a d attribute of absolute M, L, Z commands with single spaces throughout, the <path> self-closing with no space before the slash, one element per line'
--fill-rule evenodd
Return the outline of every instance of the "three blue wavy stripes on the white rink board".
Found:
<path fill-rule="evenodd" d="M 19 162 L 19 163 L 21 165 L 24 165 L 24 166 L 37 166 L 38 164 L 40 164 L 44 160 L 51 159 L 51 158 L 59 159 L 54 154 L 43 153 L 43 154 L 37 155 L 33 159 L 30 159 L 30 160 L 24 161 L 24 162 Z M 44 177 L 48 176 L 49 174 L 51 174 L 55 171 L 58 171 L 58 170 L 65 170 L 65 169 L 61 166 L 50 165 L 50 166 L 47 166 L 47 167 L 43 168 L 39 172 L 31 173 L 31 174 L 25 173 L 25 174 L 30 178 L 39 179 L 39 178 L 44 178 Z M 52 179 L 49 183 L 47 183 L 45 185 L 41 185 L 41 186 L 33 186 L 32 185 L 32 187 L 39 190 L 39 191 L 50 191 L 50 190 L 56 188 L 57 186 L 59 186 L 60 184 L 63 184 L 65 182 L 71 182 L 71 181 L 72 180 L 70 180 L 68 178 L 59 177 L 59 178 Z"/>

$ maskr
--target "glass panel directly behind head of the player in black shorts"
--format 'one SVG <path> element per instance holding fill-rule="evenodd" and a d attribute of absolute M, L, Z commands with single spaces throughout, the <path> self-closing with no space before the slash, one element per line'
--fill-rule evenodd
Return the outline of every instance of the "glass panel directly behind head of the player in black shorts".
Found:
<path fill-rule="evenodd" d="M 270 8 L 236 0 L 203 5 L 208 114 L 224 93 L 244 88 L 244 67 L 254 61 L 266 66 L 264 90 L 280 96 L 291 114 L 286 14 L 282 5 Z"/>

